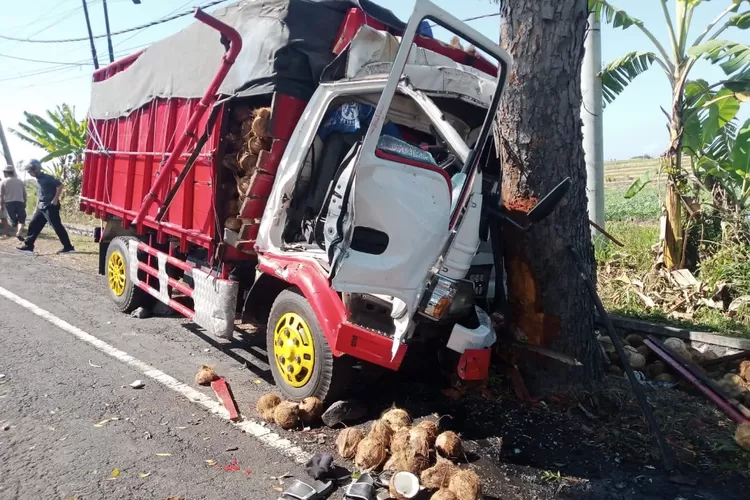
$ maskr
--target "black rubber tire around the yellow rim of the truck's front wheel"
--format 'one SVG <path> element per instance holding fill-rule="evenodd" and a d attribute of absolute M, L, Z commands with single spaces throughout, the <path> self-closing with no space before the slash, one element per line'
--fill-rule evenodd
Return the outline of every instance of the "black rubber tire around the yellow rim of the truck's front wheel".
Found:
<path fill-rule="evenodd" d="M 274 353 L 275 328 L 282 316 L 287 313 L 295 313 L 304 320 L 313 341 L 315 357 L 312 375 L 301 387 L 294 387 L 287 382 L 278 366 Z M 349 370 L 351 369 L 351 359 L 347 356 L 341 358 L 333 356 L 312 307 L 296 288 L 283 290 L 273 302 L 266 328 L 266 348 L 268 364 L 276 381 L 276 387 L 286 398 L 299 401 L 306 397 L 315 396 L 324 403 L 331 403 L 345 393 L 349 380 Z"/>

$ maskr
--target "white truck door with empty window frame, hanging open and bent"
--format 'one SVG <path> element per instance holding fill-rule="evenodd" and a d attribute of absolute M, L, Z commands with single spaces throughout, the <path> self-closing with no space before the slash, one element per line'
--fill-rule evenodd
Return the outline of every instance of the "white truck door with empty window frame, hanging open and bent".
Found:
<path fill-rule="evenodd" d="M 500 51 L 432 3 L 416 2 L 367 133 L 334 184 L 325 227 L 333 288 L 395 297 L 406 304 L 410 316 L 451 233 L 452 185 L 431 155 L 382 133 L 425 18 L 457 34 L 468 32 L 467 39 L 496 49 L 493 53 Z"/>

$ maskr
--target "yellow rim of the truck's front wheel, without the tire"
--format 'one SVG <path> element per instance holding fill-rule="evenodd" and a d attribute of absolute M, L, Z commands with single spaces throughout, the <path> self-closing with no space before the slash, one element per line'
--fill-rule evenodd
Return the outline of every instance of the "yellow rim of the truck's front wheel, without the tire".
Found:
<path fill-rule="evenodd" d="M 315 344 L 310 328 L 297 313 L 286 313 L 273 330 L 273 355 L 286 383 L 303 387 L 312 377 Z"/>

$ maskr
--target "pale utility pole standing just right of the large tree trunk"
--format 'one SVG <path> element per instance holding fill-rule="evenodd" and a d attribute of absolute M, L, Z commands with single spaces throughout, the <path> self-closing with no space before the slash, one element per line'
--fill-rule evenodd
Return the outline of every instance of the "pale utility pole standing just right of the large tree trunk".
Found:
<path fill-rule="evenodd" d="M 604 131 L 602 127 L 602 33 L 594 13 L 589 15 L 589 28 L 584 43 L 581 68 L 583 106 L 583 151 L 586 155 L 586 194 L 589 219 L 604 228 Z M 597 240 L 600 238 L 596 238 Z"/>

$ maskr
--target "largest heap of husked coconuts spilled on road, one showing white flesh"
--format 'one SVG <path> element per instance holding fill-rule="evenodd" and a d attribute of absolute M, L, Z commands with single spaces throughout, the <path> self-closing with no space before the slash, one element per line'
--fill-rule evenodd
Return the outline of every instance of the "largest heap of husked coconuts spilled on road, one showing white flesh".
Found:
<path fill-rule="evenodd" d="M 438 422 L 432 420 L 413 424 L 409 414 L 400 408 L 385 412 L 367 434 L 354 427 L 342 430 L 336 448 L 341 458 L 354 460 L 362 472 L 393 472 L 393 498 L 413 498 L 412 494 L 416 494 L 410 491 L 413 485 L 409 481 L 403 481 L 405 486 L 399 484 L 404 477 L 418 478 L 422 487 L 434 491 L 433 499 L 481 498 L 479 476 L 455 464 L 464 458 L 458 435 L 452 431 L 441 433 Z"/>

